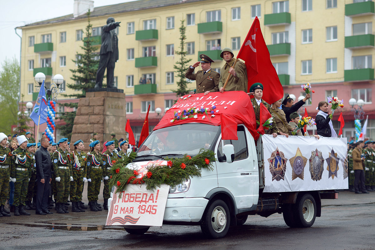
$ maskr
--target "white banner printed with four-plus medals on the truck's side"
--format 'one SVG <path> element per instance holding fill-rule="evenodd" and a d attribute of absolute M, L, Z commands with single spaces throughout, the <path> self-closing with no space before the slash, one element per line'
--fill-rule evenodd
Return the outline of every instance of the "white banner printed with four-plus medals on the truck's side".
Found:
<path fill-rule="evenodd" d="M 347 138 L 262 135 L 264 192 L 348 188 Z"/>

